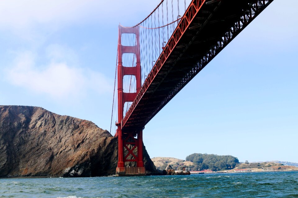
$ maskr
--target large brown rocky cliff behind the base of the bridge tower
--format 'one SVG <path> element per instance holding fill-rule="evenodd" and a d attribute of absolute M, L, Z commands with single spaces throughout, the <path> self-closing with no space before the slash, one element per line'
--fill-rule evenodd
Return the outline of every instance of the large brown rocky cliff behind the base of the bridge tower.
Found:
<path fill-rule="evenodd" d="M 117 138 L 40 107 L 0 105 L 0 177 L 115 174 Z M 155 171 L 145 147 L 147 171 Z"/>

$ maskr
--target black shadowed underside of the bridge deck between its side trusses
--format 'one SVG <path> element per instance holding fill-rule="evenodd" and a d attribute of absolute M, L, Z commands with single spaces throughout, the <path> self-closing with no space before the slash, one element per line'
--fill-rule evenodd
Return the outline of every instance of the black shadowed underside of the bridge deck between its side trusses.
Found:
<path fill-rule="evenodd" d="M 204 3 L 129 115 L 123 131 L 143 128 L 162 108 L 160 105 L 165 98 L 169 97 L 187 73 L 243 16 L 252 2 L 255 1 L 222 0 L 210 5 Z"/>

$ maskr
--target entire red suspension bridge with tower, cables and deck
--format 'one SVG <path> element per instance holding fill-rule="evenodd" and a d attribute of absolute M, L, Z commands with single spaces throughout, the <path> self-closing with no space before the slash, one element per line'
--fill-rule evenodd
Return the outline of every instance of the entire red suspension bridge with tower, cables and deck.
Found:
<path fill-rule="evenodd" d="M 117 175 L 146 173 L 145 125 L 271 2 L 162 0 L 137 25 L 119 25 L 111 119 Z"/>

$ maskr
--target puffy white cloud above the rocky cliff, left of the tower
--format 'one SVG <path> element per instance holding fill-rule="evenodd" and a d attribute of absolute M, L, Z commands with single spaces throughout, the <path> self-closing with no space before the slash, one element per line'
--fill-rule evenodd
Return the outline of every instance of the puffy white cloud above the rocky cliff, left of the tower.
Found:
<path fill-rule="evenodd" d="M 46 50 L 48 63 L 37 65 L 36 54 L 20 52 L 14 64 L 5 70 L 6 81 L 58 100 L 82 97 L 88 90 L 99 94 L 111 92 L 112 87 L 104 75 L 69 64 L 68 59 L 76 59 L 72 53 L 60 45 L 50 45 Z"/>

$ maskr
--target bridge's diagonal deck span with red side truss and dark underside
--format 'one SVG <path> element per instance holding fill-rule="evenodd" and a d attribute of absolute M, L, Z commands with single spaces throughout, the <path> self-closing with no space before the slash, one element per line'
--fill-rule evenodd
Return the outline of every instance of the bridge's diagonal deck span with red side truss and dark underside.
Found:
<path fill-rule="evenodd" d="M 193 0 L 129 111 L 123 131 L 139 131 L 273 0 Z"/>

